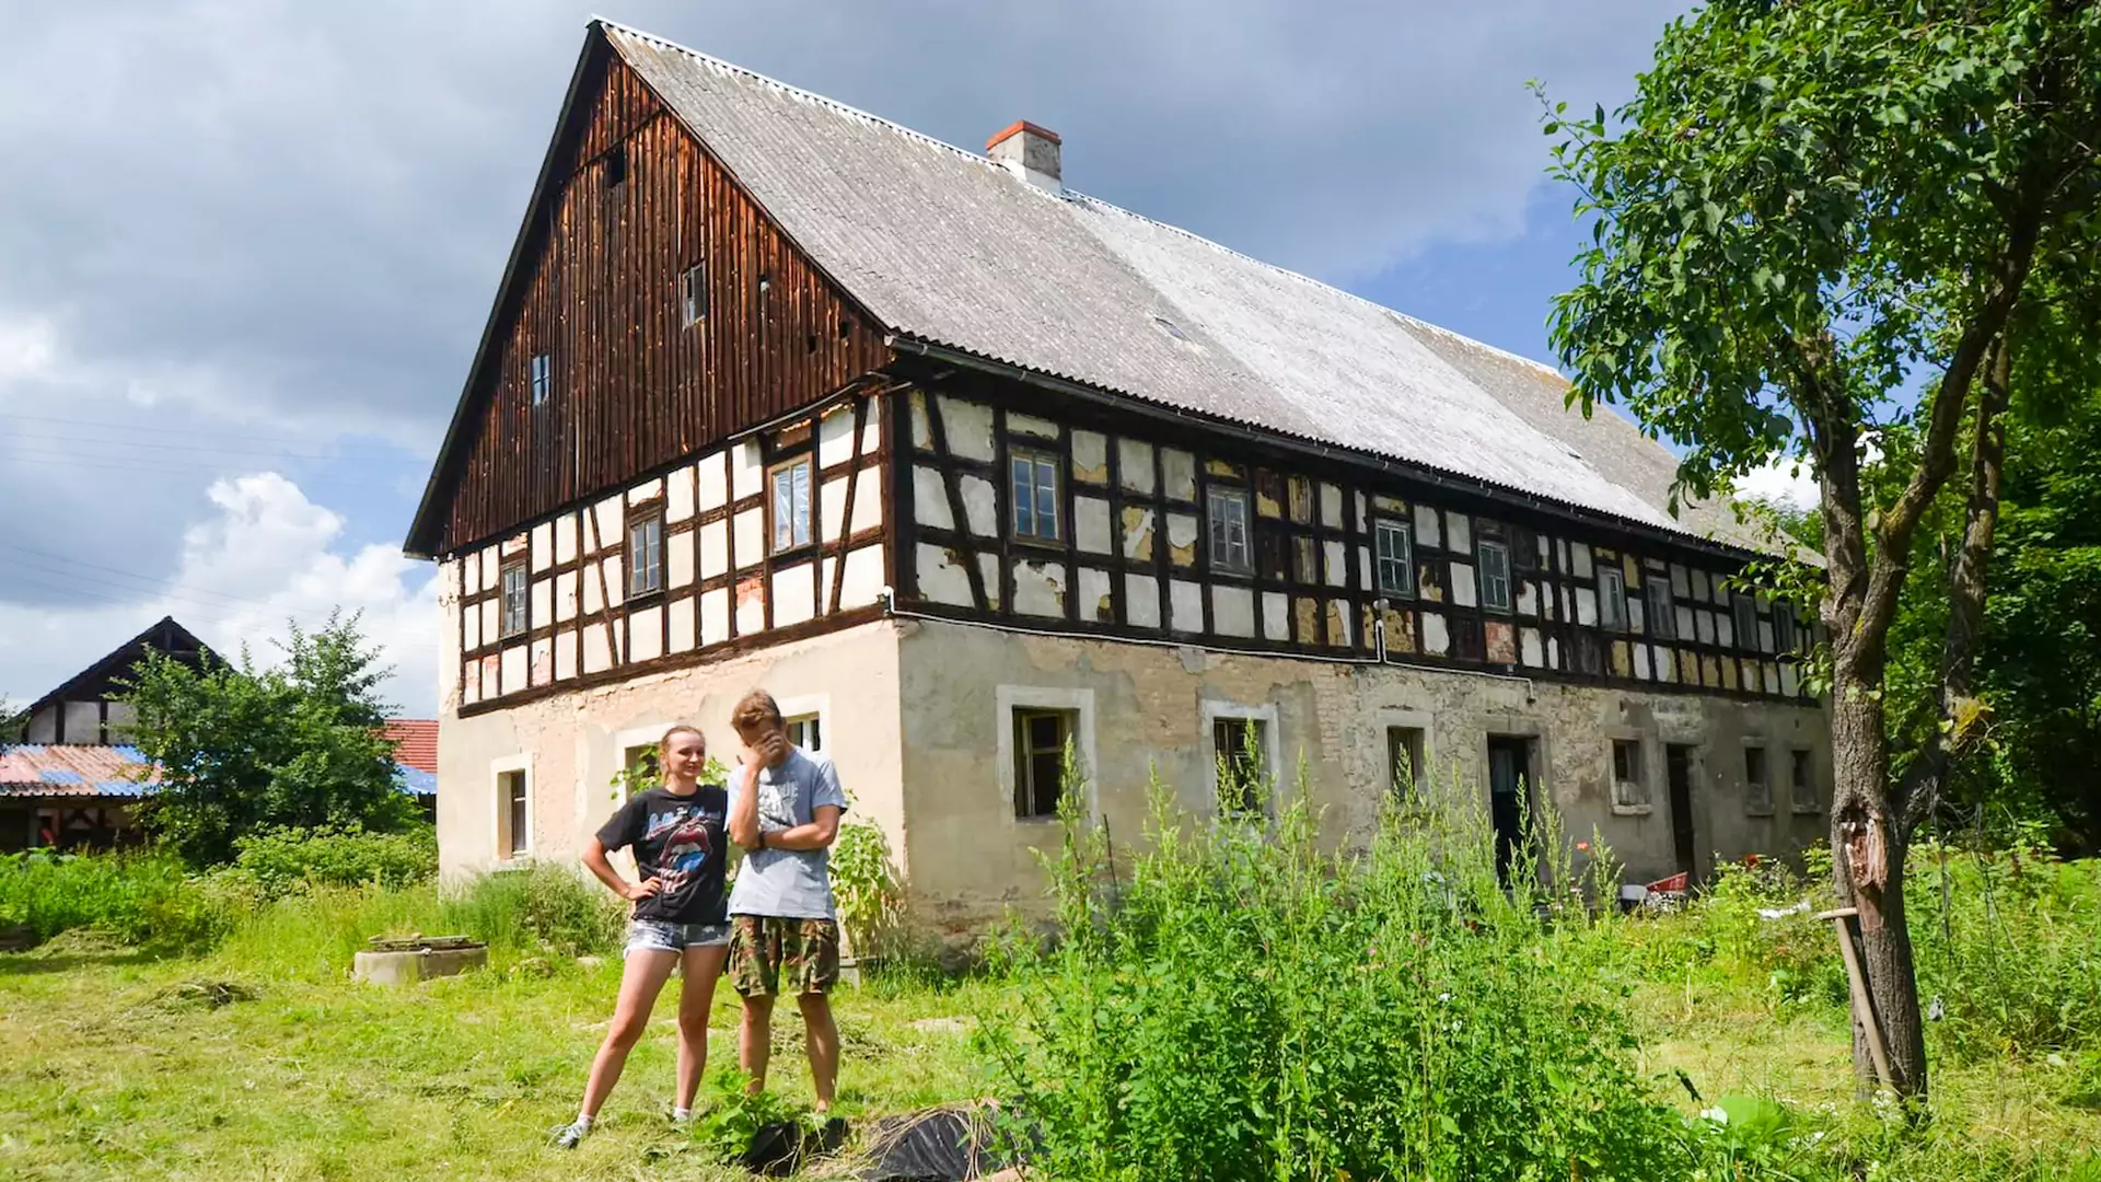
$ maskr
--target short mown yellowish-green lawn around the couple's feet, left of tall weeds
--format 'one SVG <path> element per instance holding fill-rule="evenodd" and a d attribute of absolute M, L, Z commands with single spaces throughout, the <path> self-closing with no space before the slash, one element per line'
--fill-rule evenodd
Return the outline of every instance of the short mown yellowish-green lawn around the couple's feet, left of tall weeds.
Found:
<path fill-rule="evenodd" d="M 601 1127 L 576 1153 L 548 1148 L 550 1129 L 576 1115 L 620 965 L 544 963 L 384 989 L 347 974 L 242 978 L 219 957 L 0 957 L 0 1176 L 742 1176 L 666 1121 L 670 991 Z M 219 1003 L 210 984 L 252 999 Z M 840 1110 L 977 1096 L 964 993 L 843 991 Z M 733 1062 L 735 1022 L 735 997 L 721 989 L 710 1064 Z M 809 1102 L 792 1007 L 775 1018 L 773 1085 Z"/>

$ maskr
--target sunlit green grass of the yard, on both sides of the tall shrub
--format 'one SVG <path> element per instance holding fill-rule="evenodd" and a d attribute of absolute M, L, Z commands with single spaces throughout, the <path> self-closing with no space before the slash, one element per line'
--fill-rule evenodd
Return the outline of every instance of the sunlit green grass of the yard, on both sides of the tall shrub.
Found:
<path fill-rule="evenodd" d="M 2063 875 L 2084 877 L 2065 888 Z M 1687 915 L 1599 928 L 1607 944 L 1584 963 L 1628 989 L 1635 1073 L 1656 1100 L 1693 1115 L 1723 1096 L 1773 1098 L 1809 1134 L 1786 1171 L 1729 1178 L 2101 1182 L 2101 1045 L 2090 1016 L 2057 1001 L 2080 997 L 2067 982 L 2082 980 L 2078 955 L 2101 932 L 2101 867 L 2042 881 L 2051 890 L 2027 896 L 1994 888 L 1990 915 L 1964 902 L 1983 892 L 1958 883 L 1948 930 L 1975 946 L 1967 925 L 1990 919 L 1994 940 L 2027 951 L 2023 965 L 2048 957 L 2051 1005 L 2021 1007 L 2038 993 L 2025 970 L 1922 949 L 1927 989 L 1948 993 L 1950 1020 L 1933 1028 L 1933 1119 L 1918 1132 L 1853 1096 L 1830 932 L 1754 915 L 1801 883 L 1725 879 Z M 0 955 L 0 1178 L 740 1176 L 664 1119 L 670 997 L 601 1129 L 571 1155 L 546 1146 L 576 1110 L 620 978 L 603 898 L 574 877 L 500 875 L 464 896 L 311 888 L 227 906 L 223 934 L 187 953 L 71 930 Z M 492 963 L 410 989 L 353 984 L 351 953 L 401 932 L 481 936 Z M 994 1094 L 971 1031 L 1015 997 L 992 980 L 843 989 L 843 1113 L 866 1127 Z M 2006 1014 L 2002 1028 L 2019 1037 L 1983 1037 L 1990 1014 Z M 712 1064 L 733 1062 L 735 1018 L 719 989 Z M 798 1035 L 784 1012 L 773 1085 L 807 1102 Z"/>

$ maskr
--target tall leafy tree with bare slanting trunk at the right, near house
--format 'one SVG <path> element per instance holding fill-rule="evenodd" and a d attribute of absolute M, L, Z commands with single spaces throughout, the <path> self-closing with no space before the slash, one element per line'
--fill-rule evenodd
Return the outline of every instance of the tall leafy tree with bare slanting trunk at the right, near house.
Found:
<path fill-rule="evenodd" d="M 2004 408 L 2023 358 L 2067 351 L 2038 292 L 2093 259 L 2097 88 L 2090 4 L 1714 0 L 1611 122 L 1546 124 L 1595 223 L 1551 326 L 1572 400 L 1685 444 L 1693 496 L 1782 456 L 1817 477 L 1834 877 L 1906 1096 L 1927 1092 L 1906 852 L 1981 730 Z M 1931 740 L 1893 759 L 1891 625 L 1958 467 Z"/>

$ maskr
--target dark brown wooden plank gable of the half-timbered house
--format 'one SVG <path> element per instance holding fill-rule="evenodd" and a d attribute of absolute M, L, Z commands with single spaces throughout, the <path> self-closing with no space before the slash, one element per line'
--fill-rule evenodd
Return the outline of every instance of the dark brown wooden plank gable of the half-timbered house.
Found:
<path fill-rule="evenodd" d="M 452 471 L 439 473 L 450 503 L 429 507 L 433 553 L 630 484 L 889 360 L 880 326 L 603 44 L 584 61 L 529 219 Z M 689 326 L 695 265 L 706 313 Z M 550 364 L 538 404 L 536 355 Z"/>

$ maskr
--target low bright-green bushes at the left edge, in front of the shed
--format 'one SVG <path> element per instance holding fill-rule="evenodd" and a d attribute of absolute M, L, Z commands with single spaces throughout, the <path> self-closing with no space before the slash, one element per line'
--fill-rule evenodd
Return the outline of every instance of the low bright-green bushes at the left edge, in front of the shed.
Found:
<path fill-rule="evenodd" d="M 0 925 L 27 925 L 38 940 L 92 928 L 137 946 L 200 949 L 235 919 L 162 854 L 29 850 L 0 858 Z"/>

